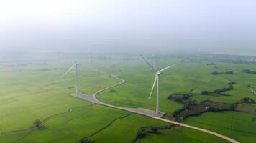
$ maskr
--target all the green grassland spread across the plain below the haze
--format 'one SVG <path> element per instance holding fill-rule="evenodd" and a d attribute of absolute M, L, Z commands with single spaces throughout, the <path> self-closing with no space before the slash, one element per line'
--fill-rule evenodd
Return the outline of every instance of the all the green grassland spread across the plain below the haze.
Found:
<path fill-rule="evenodd" d="M 105 56 L 110 58 L 104 59 Z M 20 57 L 17 58 L 17 61 L 0 62 L 0 143 L 77 142 L 82 137 L 89 136 L 106 127 L 114 119 L 129 114 L 109 107 L 91 105 L 91 103 L 70 97 L 69 94 L 74 92 L 74 73 L 70 71 L 63 79 L 60 79 L 60 76 L 73 64 L 73 55 L 66 55 L 61 61 L 52 60 L 50 55 L 42 55 L 42 57 L 47 57 L 49 61 L 42 61 L 37 59 L 40 57 L 33 56 L 31 59 L 35 59 L 35 61 Z M 76 54 L 76 58 L 81 64 L 78 67 L 80 92 L 93 94 L 101 88 L 119 82 L 106 74 L 89 70 L 90 61 L 87 56 Z M 22 59 L 26 60 L 22 61 Z M 156 65 L 166 66 L 178 61 L 180 59 L 165 57 L 157 59 Z M 150 70 L 138 56 L 97 55 L 93 59 L 93 67 L 109 74 L 119 75 L 122 79 L 127 80 L 122 86 L 113 88 L 116 92 L 106 91 L 99 94 L 101 101 L 122 107 L 155 109 L 155 92 L 150 100 L 147 99 L 155 70 Z M 256 70 L 253 65 L 217 63 L 217 68 L 206 66 L 205 62 L 183 62 L 164 71 L 160 78 L 160 110 L 171 116 L 176 109 L 180 109 L 183 105 L 170 101 L 167 97 L 174 92 L 189 92 L 191 89 L 193 89 L 191 98 L 198 102 L 210 99 L 217 102 L 233 103 L 242 97 L 256 100 L 256 96 L 247 89 L 247 84 L 256 89 L 256 75 L 244 74 L 241 71 L 242 69 Z M 211 74 L 213 71 L 225 70 L 234 70 L 235 74 L 221 74 L 225 78 Z M 202 90 L 212 91 L 224 87 L 229 82 L 227 78 L 236 82 L 234 90 L 229 92 L 231 96 L 211 97 L 200 94 Z M 69 109 L 71 112 L 68 112 Z M 58 115 L 52 116 L 55 114 Z M 207 117 L 205 114 L 210 115 Z M 198 121 L 206 121 L 210 123 L 205 125 L 206 129 L 230 135 L 241 142 L 256 141 L 255 137 L 248 133 L 255 134 L 252 131 L 255 129 L 255 124 L 250 122 L 250 117 L 254 117 L 254 115 L 240 112 L 205 114 L 188 118 L 188 124 L 204 127 L 204 124 L 200 124 Z M 220 119 L 214 119 L 219 116 Z M 225 119 L 226 116 L 227 119 Z M 44 120 L 47 117 L 50 119 L 35 131 L 1 134 L 2 132 L 27 129 L 32 127 L 35 119 Z M 242 118 L 236 120 L 236 128 L 241 132 L 229 134 L 228 127 L 231 126 L 232 120 L 230 119 L 232 117 Z M 223 120 L 227 124 L 223 124 L 222 128 L 216 127 L 219 120 Z M 240 120 L 246 121 L 250 126 L 239 122 Z M 165 124 L 155 119 L 132 114 L 124 119 L 117 119 L 109 127 L 89 139 L 96 142 L 131 142 L 140 127 Z M 139 142 L 166 142 L 171 139 L 173 142 L 225 142 L 209 134 L 186 128 L 160 131 L 160 134 L 147 134 L 145 139 L 141 139 Z"/>

